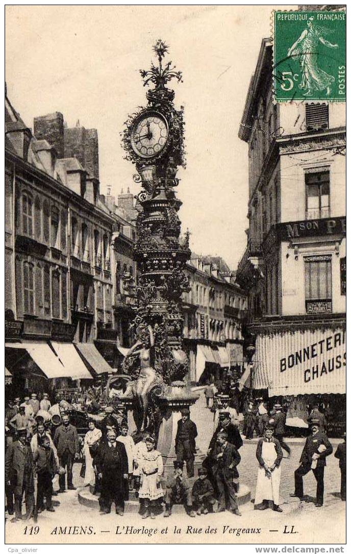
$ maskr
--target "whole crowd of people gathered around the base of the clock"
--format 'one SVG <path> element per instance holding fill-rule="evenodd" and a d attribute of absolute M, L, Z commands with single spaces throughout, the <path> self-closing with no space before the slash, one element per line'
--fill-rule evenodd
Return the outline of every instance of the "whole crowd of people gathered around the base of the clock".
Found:
<path fill-rule="evenodd" d="M 207 407 L 213 412 L 214 428 L 207 455 L 196 476 L 194 461 L 198 433 L 188 408 L 182 409 L 178 421 L 174 470 L 167 477 L 164 477 L 163 457 L 156 448 L 156 438 L 150 432 L 131 435 L 126 412 L 107 404 L 102 417 L 88 414 L 80 476 L 92 494 L 99 496 L 101 515 L 110 513 L 114 503 L 116 514 L 122 516 L 125 501 L 137 498 L 143 519 L 153 519 L 162 511 L 164 517 L 169 517 L 175 504 L 182 504 L 190 517 L 225 510 L 240 516 L 239 450 L 243 444 L 242 435 L 251 439 L 254 430 L 258 437 L 254 508 L 265 510 L 271 507 L 274 511 L 282 511 L 279 500 L 281 461 L 283 450 L 286 457 L 291 451 L 284 440 L 286 416 L 281 404 L 276 403 L 269 410 L 264 399 L 256 399 L 255 425 L 252 426 L 254 408 L 249 402 L 240 432 L 240 407 L 233 406 L 230 395 L 215 392 L 209 396 L 205 389 L 205 397 Z M 73 464 L 79 458 L 81 448 L 77 429 L 70 421 L 72 404 L 63 399 L 56 400 L 51 405 L 49 394 L 43 393 L 38 398 L 32 393 L 26 395 L 23 402 L 20 397 L 8 402 L 5 478 L 7 511 L 9 515 L 14 514 L 12 521 L 23 518 L 23 497 L 24 517 L 28 519 L 44 509 L 54 511 L 52 497 L 65 493 L 66 489 L 76 489 Z M 77 411 L 86 409 L 80 403 L 76 405 L 79 406 L 75 408 Z M 326 458 L 333 449 L 326 434 L 325 418 L 318 406 L 313 407 L 309 423 L 311 435 L 306 439 L 300 465 L 295 471 L 292 496 L 304 499 L 303 476 L 312 470 L 317 481 L 316 506 L 320 507 L 324 498 Z M 340 492 L 345 500 L 345 434 L 335 456 L 339 459 Z M 56 475 L 59 489 L 54 491 Z"/>

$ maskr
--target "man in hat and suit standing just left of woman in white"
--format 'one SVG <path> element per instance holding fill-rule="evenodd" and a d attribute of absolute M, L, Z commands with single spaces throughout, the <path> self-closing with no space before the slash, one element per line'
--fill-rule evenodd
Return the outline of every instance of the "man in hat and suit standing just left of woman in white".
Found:
<path fill-rule="evenodd" d="M 76 488 L 72 482 L 72 468 L 75 458 L 78 458 L 79 440 L 76 428 L 69 422 L 68 414 L 63 414 L 62 424 L 56 428 L 54 445 L 59 456 L 60 466 L 67 469 L 67 488 L 75 490 Z M 64 493 L 66 487 L 65 474 L 60 474 L 59 485 L 60 489 L 58 492 Z"/>

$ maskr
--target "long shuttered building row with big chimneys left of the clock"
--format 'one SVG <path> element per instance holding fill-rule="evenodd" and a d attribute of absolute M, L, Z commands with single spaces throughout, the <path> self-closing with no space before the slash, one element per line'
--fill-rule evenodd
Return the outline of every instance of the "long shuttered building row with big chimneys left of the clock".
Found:
<path fill-rule="evenodd" d="M 5 105 L 6 365 L 19 388 L 91 379 L 118 361 L 116 291 L 125 265 L 136 272 L 120 247 L 135 228 L 100 194 L 96 130 L 79 127 L 74 151 L 59 112 L 36 117 L 35 136 Z"/>

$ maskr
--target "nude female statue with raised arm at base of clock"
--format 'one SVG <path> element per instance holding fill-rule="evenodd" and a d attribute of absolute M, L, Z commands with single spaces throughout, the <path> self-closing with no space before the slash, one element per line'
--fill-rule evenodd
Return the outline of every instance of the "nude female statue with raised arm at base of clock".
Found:
<path fill-rule="evenodd" d="M 142 414 L 139 422 L 136 422 L 139 431 L 146 430 L 148 425 L 149 392 L 157 383 L 162 383 L 162 377 L 153 367 L 154 359 L 154 334 L 151 325 L 147 327 L 148 335 L 143 341 L 138 340 L 127 353 L 125 360 L 130 356 L 139 356 L 140 373 L 136 381 L 128 383 L 123 396 L 132 393 L 137 401 L 138 414 Z M 141 348 L 140 348 L 141 346 Z"/>

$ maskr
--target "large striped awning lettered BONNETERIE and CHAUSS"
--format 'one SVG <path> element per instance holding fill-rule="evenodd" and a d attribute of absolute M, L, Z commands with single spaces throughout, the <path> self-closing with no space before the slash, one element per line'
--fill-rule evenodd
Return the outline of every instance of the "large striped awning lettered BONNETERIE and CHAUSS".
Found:
<path fill-rule="evenodd" d="M 252 362 L 252 388 L 269 396 L 346 392 L 343 329 L 257 335 Z"/>

